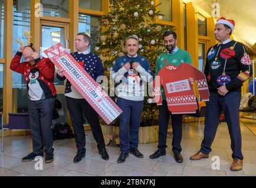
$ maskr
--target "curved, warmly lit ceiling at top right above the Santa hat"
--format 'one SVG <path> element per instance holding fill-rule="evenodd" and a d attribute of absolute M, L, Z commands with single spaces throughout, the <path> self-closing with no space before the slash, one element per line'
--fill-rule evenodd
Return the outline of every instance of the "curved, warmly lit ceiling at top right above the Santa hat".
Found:
<path fill-rule="evenodd" d="M 212 4 L 216 0 L 189 0 L 199 8 L 212 15 Z M 256 55 L 256 0 L 217 0 L 220 16 L 234 19 L 233 37 L 244 43 L 251 53 Z M 218 18 L 216 18 L 218 19 Z"/>

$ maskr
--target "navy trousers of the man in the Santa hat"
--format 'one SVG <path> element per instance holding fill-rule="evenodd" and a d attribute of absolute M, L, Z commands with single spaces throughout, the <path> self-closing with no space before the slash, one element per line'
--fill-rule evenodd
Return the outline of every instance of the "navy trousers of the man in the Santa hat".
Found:
<path fill-rule="evenodd" d="M 214 142 L 219 116 L 223 111 L 228 124 L 228 131 L 231 138 L 232 157 L 244 159 L 242 156 L 242 139 L 239 126 L 239 105 L 241 92 L 228 92 L 221 96 L 218 93 L 210 93 L 209 102 L 206 102 L 204 140 L 201 143 L 201 152 L 208 154 L 212 151 L 211 145 Z"/>

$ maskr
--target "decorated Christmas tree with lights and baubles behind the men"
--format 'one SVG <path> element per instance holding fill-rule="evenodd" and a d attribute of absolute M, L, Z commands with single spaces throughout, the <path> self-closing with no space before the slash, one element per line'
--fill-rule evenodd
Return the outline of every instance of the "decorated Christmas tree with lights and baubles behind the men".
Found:
<path fill-rule="evenodd" d="M 156 24 L 157 20 L 163 18 L 157 11 L 159 5 L 155 5 L 152 0 L 110 0 L 111 12 L 104 15 L 100 21 L 100 25 L 106 29 L 103 32 L 99 29 L 98 33 L 94 33 L 94 36 L 98 37 L 92 43 L 96 46 L 95 51 L 103 62 L 108 78 L 115 60 L 126 54 L 125 40 L 130 35 L 138 36 L 137 53 L 149 60 L 152 72 L 155 72 L 156 58 L 165 50 L 162 43 L 163 32 L 170 29 L 169 26 Z M 153 119 L 157 119 L 156 105 L 145 100 L 141 126 L 149 125 Z"/>

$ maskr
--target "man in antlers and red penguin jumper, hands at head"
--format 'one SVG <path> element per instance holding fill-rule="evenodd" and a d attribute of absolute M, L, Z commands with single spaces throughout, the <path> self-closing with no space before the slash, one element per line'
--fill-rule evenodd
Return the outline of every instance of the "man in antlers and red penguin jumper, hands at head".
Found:
<path fill-rule="evenodd" d="M 21 56 L 27 62 L 21 61 Z M 52 112 L 54 108 L 54 63 L 48 58 L 40 58 L 32 43 L 21 46 L 12 59 L 10 69 L 24 75 L 28 89 L 28 117 L 33 140 L 33 152 L 22 158 L 22 162 L 34 160 L 36 156 L 43 156 L 45 163 L 54 160 L 52 148 Z"/>

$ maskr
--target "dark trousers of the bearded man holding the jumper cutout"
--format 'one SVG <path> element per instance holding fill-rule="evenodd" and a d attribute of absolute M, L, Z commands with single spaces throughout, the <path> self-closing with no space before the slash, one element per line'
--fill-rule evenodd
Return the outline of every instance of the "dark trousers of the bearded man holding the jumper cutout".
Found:
<path fill-rule="evenodd" d="M 169 109 L 166 100 L 163 100 L 162 105 L 159 107 L 159 143 L 158 149 L 165 150 L 166 146 L 166 137 L 168 131 L 168 122 L 170 116 L 172 117 L 172 151 L 175 154 L 181 152 L 182 148 L 180 146 L 180 142 L 182 139 L 182 115 L 175 114 L 173 115 Z"/>

